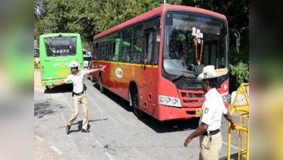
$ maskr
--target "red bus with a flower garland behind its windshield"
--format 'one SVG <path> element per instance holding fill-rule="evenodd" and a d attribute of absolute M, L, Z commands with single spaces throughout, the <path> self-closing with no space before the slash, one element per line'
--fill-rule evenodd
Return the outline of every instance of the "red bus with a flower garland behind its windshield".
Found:
<path fill-rule="evenodd" d="M 159 119 L 199 117 L 204 100 L 197 77 L 206 65 L 220 75 L 228 107 L 228 22 L 222 14 L 164 5 L 94 36 L 94 80 L 129 101 L 134 114 Z"/>

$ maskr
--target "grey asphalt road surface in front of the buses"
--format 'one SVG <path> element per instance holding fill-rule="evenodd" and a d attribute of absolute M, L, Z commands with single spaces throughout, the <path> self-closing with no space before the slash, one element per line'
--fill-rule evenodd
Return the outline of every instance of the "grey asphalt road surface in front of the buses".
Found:
<path fill-rule="evenodd" d="M 35 82 L 36 83 L 36 82 Z M 90 133 L 80 132 L 82 112 L 71 133 L 65 127 L 73 114 L 72 86 L 49 92 L 34 88 L 34 159 L 198 159 L 198 138 L 188 148 L 186 137 L 198 119 L 159 122 L 146 116 L 137 119 L 132 107 L 113 93 L 102 95 L 95 83 L 86 80 Z M 227 159 L 228 123 L 221 127 L 221 159 Z M 237 159 L 237 133 L 233 132 L 232 158 Z"/>

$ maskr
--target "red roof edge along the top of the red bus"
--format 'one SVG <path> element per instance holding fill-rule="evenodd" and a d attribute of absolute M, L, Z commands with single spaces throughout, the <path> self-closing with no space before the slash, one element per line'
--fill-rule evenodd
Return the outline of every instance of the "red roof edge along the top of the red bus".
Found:
<path fill-rule="evenodd" d="M 129 25 L 132 25 L 133 23 L 137 23 L 139 21 L 142 21 L 145 18 L 149 18 L 151 16 L 161 14 L 162 12 L 166 11 L 167 9 L 178 9 L 178 10 L 183 10 L 183 11 L 195 11 L 201 14 L 209 14 L 211 16 L 218 16 L 219 18 L 223 18 L 225 21 L 227 21 L 227 18 L 223 14 L 218 14 L 214 11 L 209 11 L 206 9 L 200 9 L 198 7 L 191 7 L 191 6 L 178 6 L 178 5 L 169 5 L 165 4 L 163 6 L 160 6 L 156 9 L 153 9 L 151 11 L 148 11 L 140 16 L 137 16 L 135 18 L 130 19 L 129 21 L 126 21 L 124 23 L 119 24 L 118 26 L 114 26 L 113 28 L 110 28 L 106 31 L 103 31 L 102 33 L 99 33 L 94 36 L 94 38 L 100 38 L 101 36 L 105 36 L 108 33 L 112 33 L 114 31 L 117 31 L 121 28 L 127 27 Z"/>

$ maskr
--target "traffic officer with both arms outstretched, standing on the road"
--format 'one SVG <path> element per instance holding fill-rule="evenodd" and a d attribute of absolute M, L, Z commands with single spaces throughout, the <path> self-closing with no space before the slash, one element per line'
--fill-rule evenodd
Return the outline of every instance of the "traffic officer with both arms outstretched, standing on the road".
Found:
<path fill-rule="evenodd" d="M 53 87 L 59 86 L 59 85 L 64 85 L 68 83 L 69 81 L 73 82 L 73 102 L 74 102 L 74 113 L 70 120 L 68 121 L 68 125 L 66 128 L 67 134 L 70 134 L 70 127 L 77 119 L 79 115 L 79 105 L 82 105 L 82 112 L 83 112 L 83 120 L 82 120 L 82 132 L 90 132 L 89 129 L 87 129 L 87 124 L 88 124 L 88 105 L 87 105 L 87 98 L 86 94 L 83 90 L 83 77 L 84 75 L 94 73 L 97 71 L 102 70 L 105 72 L 105 67 L 104 68 L 99 68 L 99 69 L 91 69 L 91 70 L 78 70 L 79 63 L 76 60 L 73 60 L 70 65 L 68 66 L 71 68 L 71 73 L 68 75 L 65 80 L 61 80 L 60 82 L 56 84 L 52 84 L 49 86 L 49 89 L 52 89 Z"/>

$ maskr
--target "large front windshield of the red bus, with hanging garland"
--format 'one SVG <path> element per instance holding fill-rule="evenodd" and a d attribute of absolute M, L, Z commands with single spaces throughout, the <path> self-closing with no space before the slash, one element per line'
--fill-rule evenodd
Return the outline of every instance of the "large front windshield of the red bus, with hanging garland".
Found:
<path fill-rule="evenodd" d="M 168 11 L 165 17 L 166 73 L 196 78 L 206 65 L 215 65 L 215 69 L 228 67 L 226 21 L 185 11 Z"/>

